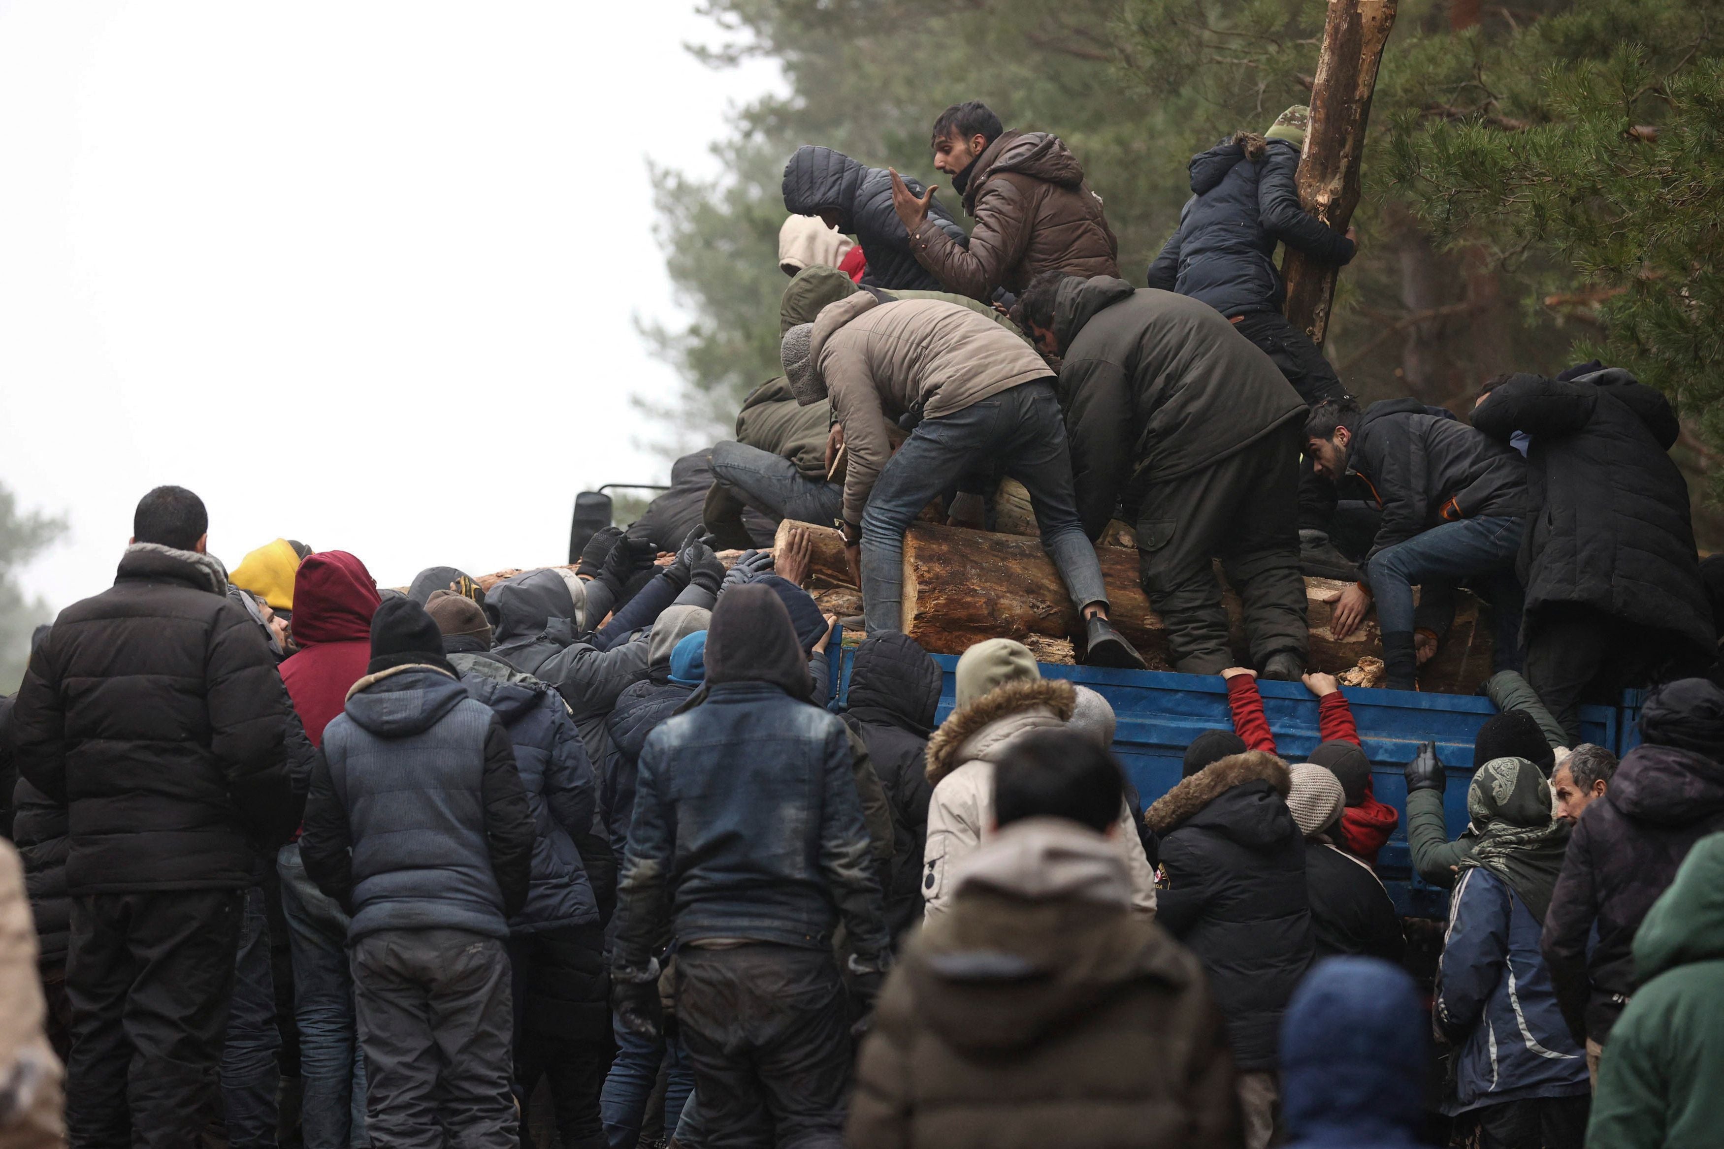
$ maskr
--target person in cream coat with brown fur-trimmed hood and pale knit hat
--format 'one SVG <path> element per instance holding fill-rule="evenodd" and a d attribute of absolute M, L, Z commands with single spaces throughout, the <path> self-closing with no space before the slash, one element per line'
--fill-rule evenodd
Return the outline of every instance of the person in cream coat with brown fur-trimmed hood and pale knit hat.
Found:
<path fill-rule="evenodd" d="M 924 913 L 948 908 L 952 866 L 993 835 L 993 765 L 1033 730 L 1064 727 L 1078 706 L 1071 682 L 1043 679 L 1036 656 L 1012 639 L 988 639 L 964 651 L 957 710 L 928 741 L 928 841 L 922 846 Z M 1114 841 L 1131 873 L 1131 906 L 1155 913 L 1155 872 L 1121 801 Z"/>

